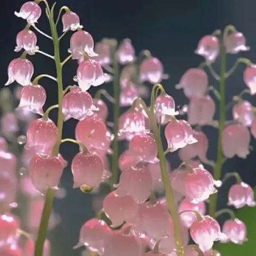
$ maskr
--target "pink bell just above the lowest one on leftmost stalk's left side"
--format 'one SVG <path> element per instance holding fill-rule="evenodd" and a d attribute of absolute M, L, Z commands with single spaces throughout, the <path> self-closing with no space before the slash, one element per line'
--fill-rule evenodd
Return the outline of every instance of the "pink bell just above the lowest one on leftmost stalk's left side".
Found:
<path fill-rule="evenodd" d="M 27 144 L 25 147 L 33 147 L 37 153 L 43 156 L 50 156 L 52 155 L 56 139 L 57 127 L 54 122 L 49 118 L 47 121 L 39 118 L 28 126 Z"/>

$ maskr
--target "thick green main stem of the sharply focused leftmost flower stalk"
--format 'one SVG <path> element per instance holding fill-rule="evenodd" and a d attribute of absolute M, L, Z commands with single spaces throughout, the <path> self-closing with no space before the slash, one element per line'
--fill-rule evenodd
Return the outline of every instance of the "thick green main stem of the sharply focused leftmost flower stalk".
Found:
<path fill-rule="evenodd" d="M 63 130 L 63 122 L 64 116 L 62 113 L 62 100 L 63 100 L 63 81 L 62 81 L 62 64 L 61 64 L 61 57 L 59 55 L 59 40 L 57 29 L 54 24 L 53 13 L 50 13 L 48 10 L 49 15 L 49 23 L 50 23 L 50 30 L 52 32 L 53 37 L 53 44 L 54 44 L 54 61 L 56 66 L 56 74 L 57 74 L 57 84 L 58 84 L 58 134 L 57 134 L 57 141 L 55 143 L 53 149 L 53 155 L 57 156 L 59 152 L 59 146 L 62 141 L 62 130 Z M 54 190 L 48 189 L 46 193 L 45 205 L 44 210 L 42 211 L 36 246 L 35 246 L 35 256 L 42 256 L 44 250 L 44 242 L 46 239 L 47 234 L 47 227 L 50 217 L 50 212 L 52 211 L 53 206 L 53 199 L 54 199 Z"/>

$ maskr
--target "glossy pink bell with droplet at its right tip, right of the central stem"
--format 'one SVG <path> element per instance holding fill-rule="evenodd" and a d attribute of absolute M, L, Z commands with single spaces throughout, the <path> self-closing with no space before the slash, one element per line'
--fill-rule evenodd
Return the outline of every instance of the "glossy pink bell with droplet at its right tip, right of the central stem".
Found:
<path fill-rule="evenodd" d="M 202 202 L 211 194 L 217 192 L 215 186 L 221 186 L 220 181 L 215 181 L 208 170 L 203 167 L 195 168 L 185 176 L 185 196 L 192 203 Z"/>

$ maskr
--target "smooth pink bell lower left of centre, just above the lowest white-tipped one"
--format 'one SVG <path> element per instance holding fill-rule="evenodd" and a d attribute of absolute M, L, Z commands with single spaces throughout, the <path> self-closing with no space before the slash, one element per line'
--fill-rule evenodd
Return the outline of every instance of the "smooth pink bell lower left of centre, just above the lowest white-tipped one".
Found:
<path fill-rule="evenodd" d="M 130 195 L 120 196 L 116 191 L 113 191 L 104 199 L 103 210 L 112 221 L 112 226 L 117 227 L 122 225 L 124 221 L 129 222 L 135 217 L 138 204 Z"/>

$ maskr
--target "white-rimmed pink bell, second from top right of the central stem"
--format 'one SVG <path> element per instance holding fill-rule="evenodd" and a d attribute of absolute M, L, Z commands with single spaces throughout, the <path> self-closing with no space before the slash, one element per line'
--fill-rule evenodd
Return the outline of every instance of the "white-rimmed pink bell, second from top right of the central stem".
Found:
<path fill-rule="evenodd" d="M 168 123 L 165 127 L 165 138 L 170 152 L 197 142 L 193 137 L 191 126 L 184 120 L 172 120 Z"/>

